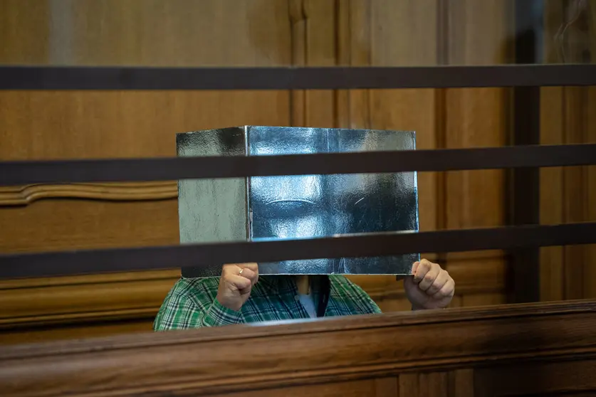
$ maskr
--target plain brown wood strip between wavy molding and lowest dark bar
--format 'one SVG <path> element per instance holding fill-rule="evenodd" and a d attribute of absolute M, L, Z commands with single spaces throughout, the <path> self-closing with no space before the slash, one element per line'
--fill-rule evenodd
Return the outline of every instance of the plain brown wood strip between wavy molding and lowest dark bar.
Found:
<path fill-rule="evenodd" d="M 41 200 L 0 209 L 0 251 L 177 244 L 177 202 Z M 82 266 L 84 264 L 81 264 Z"/>

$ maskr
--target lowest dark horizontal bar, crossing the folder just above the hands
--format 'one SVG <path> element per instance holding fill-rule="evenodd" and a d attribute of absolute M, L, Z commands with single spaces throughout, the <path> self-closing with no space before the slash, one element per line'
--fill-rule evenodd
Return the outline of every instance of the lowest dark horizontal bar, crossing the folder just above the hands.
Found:
<path fill-rule="evenodd" d="M 596 243 L 596 222 L 0 255 L 0 278 Z"/>

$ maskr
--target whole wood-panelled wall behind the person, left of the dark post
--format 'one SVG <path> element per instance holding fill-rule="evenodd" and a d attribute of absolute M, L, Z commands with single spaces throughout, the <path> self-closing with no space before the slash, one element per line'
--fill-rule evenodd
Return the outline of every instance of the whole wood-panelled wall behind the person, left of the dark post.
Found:
<path fill-rule="evenodd" d="M 507 1 L 488 6 L 434 0 L 0 3 L 0 41 L 10 43 L 0 49 L 0 63 L 502 63 L 509 21 Z M 507 117 L 504 98 L 503 90 L 490 89 L 4 91 L 0 159 L 171 156 L 176 132 L 244 124 L 414 129 L 423 149 L 499 145 Z M 421 230 L 501 224 L 502 184 L 502 175 L 493 171 L 419 174 Z M 2 187 L 0 224 L 9 227 L 0 228 L 0 250 L 176 243 L 176 195 L 172 181 Z M 424 256 L 454 275 L 452 307 L 503 301 L 506 263 L 500 252 Z M 59 329 L 68 337 L 102 321 L 114 322 L 117 332 L 150 329 L 148 319 L 178 274 L 2 282 L 0 332 L 4 340 L 15 341 L 20 333 L 24 341 L 43 339 L 44 325 L 51 329 L 49 339 L 59 337 Z M 409 310 L 394 277 L 351 278 L 383 310 Z M 97 330 L 110 332 L 110 327 Z"/>

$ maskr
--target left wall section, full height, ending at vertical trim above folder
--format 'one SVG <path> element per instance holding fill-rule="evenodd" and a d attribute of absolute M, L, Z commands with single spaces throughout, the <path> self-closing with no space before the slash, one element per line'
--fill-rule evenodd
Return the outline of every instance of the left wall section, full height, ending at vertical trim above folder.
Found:
<path fill-rule="evenodd" d="M 291 62 L 286 1 L 197 4 L 2 1 L 0 41 L 10 45 L 1 48 L 0 62 Z M 290 117 L 291 98 L 284 91 L 3 91 L 0 159 L 172 156 L 177 132 L 288 125 Z M 0 250 L 177 243 L 176 196 L 175 181 L 1 187 Z M 178 275 L 179 270 L 167 270 L 2 282 L 0 339 L 10 343 L 150 330 Z"/>

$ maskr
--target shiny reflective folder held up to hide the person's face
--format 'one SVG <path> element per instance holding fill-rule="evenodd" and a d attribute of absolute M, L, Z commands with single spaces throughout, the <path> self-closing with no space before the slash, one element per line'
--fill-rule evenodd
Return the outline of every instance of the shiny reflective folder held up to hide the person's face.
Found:
<path fill-rule="evenodd" d="M 267 156 L 415 149 L 414 132 L 235 127 L 177 135 L 179 156 Z M 418 231 L 415 172 L 181 180 L 181 243 L 330 237 Z M 259 263 L 273 274 L 409 274 L 417 253 Z M 221 264 L 183 269 L 219 275 Z"/>

